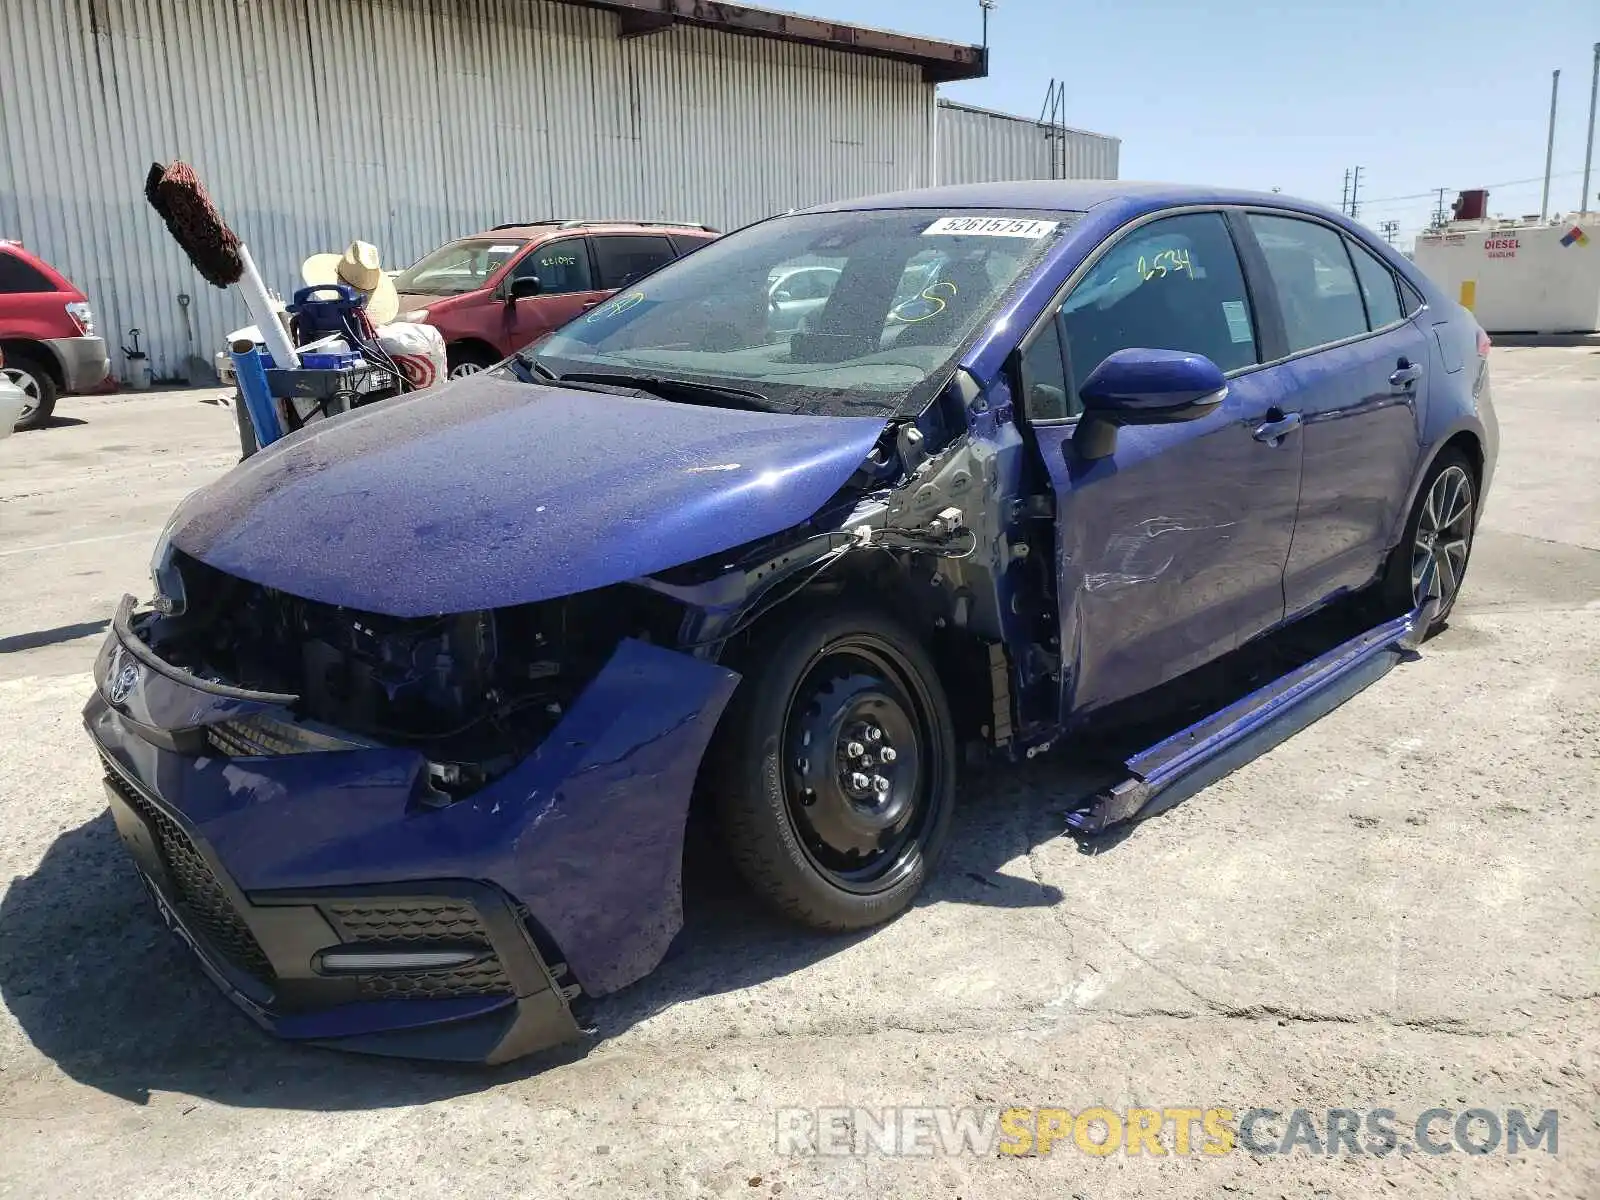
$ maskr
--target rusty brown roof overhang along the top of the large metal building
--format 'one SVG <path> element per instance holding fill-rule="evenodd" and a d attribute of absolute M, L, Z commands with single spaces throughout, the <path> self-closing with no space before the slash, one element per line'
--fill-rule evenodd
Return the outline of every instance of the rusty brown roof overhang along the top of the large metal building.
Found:
<path fill-rule="evenodd" d="M 922 67 L 922 77 L 928 83 L 984 78 L 989 74 L 989 51 L 984 46 L 890 34 L 882 29 L 846 26 L 795 13 L 776 13 L 770 8 L 746 8 L 742 5 L 709 3 L 707 0 L 562 0 L 562 3 L 616 13 L 619 37 L 643 37 L 674 24 L 702 26 L 742 37 L 768 37 L 778 42 L 842 50 L 846 54 L 912 62 Z"/>

